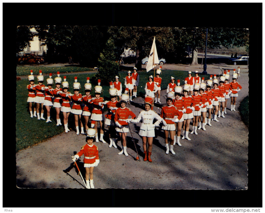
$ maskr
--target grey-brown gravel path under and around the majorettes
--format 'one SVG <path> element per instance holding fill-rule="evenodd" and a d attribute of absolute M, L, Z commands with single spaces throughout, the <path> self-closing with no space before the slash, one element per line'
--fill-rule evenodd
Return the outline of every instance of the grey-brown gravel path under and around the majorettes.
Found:
<path fill-rule="evenodd" d="M 125 66 L 133 67 L 131 64 Z M 208 74 L 217 74 L 218 66 L 230 70 L 236 68 L 234 65 L 210 64 L 207 65 Z M 203 69 L 200 67 L 201 65 L 164 64 L 162 69 L 202 72 Z M 241 67 L 241 77 L 238 78 L 243 88 L 239 92 L 236 110 L 240 101 L 248 95 L 248 69 L 243 67 Z M 165 90 L 162 91 L 163 105 L 166 105 L 165 94 Z M 133 99 L 130 106 L 127 104 L 127 107 L 137 116 L 143 109 L 143 103 L 143 99 L 137 97 Z M 154 110 L 159 113 L 157 107 L 154 107 Z M 94 169 L 95 188 L 246 189 L 248 128 L 241 121 L 238 111 L 227 110 L 225 117 L 219 118 L 220 122 L 212 121 L 212 126 L 207 125 L 206 131 L 198 130 L 197 136 L 190 134 L 191 141 L 181 140 L 182 146 L 174 146 L 176 155 L 165 154 L 164 133 L 161 128 L 156 128 L 151 155 L 152 163 L 143 161 L 142 139 L 138 135 L 140 123 L 130 124 L 139 150 L 140 161 L 135 160 L 137 154 L 130 132 L 127 135 L 128 157 L 117 155 L 119 150 L 114 147 L 109 148 L 108 144 L 95 142 L 100 156 L 100 164 Z M 107 126 L 105 129 L 107 130 Z M 86 143 L 85 137 L 85 135 L 76 135 L 75 131 L 71 130 L 17 152 L 17 186 L 20 188 L 84 188 L 70 156 L 78 152 Z M 106 136 L 105 140 L 109 142 Z M 121 142 L 118 141 L 118 148 L 120 147 Z M 78 165 L 84 177 L 83 157 Z"/>

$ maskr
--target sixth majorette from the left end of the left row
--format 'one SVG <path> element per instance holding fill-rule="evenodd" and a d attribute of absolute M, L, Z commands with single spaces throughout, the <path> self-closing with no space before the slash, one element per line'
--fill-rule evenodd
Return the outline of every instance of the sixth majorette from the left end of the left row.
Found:
<path fill-rule="evenodd" d="M 85 134 L 84 133 L 83 123 L 81 121 L 81 115 L 82 115 L 82 112 L 83 112 L 82 108 L 81 108 L 82 94 L 79 93 L 80 83 L 77 82 L 77 77 L 75 77 L 75 82 L 73 83 L 73 88 L 74 88 L 74 95 L 72 96 L 72 101 L 73 101 L 74 104 L 72 106 L 71 113 L 73 113 L 74 116 L 75 116 L 76 134 L 79 135 L 78 118 L 80 120 L 81 134 Z"/>

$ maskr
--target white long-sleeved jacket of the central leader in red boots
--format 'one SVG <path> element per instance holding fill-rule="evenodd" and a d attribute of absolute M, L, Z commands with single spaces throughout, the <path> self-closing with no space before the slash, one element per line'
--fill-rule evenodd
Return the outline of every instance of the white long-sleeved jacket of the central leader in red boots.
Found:
<path fill-rule="evenodd" d="M 156 123 L 153 124 L 153 120 L 156 118 Z M 162 118 L 153 110 L 149 109 L 148 111 L 142 110 L 140 111 L 138 117 L 136 119 L 132 119 L 132 123 L 139 123 L 143 120 L 142 125 L 140 127 L 141 130 L 153 130 L 156 126 L 160 124 Z"/>

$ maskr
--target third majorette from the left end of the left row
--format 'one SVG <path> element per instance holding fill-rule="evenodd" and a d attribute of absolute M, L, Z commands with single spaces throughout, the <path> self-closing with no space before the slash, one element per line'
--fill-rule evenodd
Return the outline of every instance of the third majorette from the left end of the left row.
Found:
<path fill-rule="evenodd" d="M 50 73 L 49 78 L 47 78 L 47 87 L 44 88 L 45 99 L 44 99 L 43 106 L 45 106 L 46 110 L 47 110 L 47 121 L 46 121 L 46 123 L 52 122 L 50 119 L 50 110 L 51 110 L 51 107 L 53 106 L 53 103 L 52 103 L 52 96 L 53 96 L 52 85 L 53 85 L 53 79 L 52 79 L 52 74 Z"/>

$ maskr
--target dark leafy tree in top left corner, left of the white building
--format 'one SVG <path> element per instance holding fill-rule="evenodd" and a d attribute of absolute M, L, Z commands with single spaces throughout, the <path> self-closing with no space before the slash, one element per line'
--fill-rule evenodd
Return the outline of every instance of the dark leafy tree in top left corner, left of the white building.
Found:
<path fill-rule="evenodd" d="M 17 27 L 17 53 L 21 52 L 26 46 L 30 46 L 33 36 L 29 26 Z"/>

